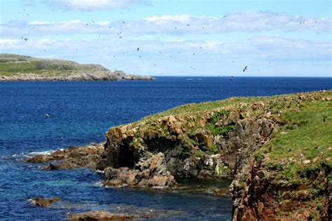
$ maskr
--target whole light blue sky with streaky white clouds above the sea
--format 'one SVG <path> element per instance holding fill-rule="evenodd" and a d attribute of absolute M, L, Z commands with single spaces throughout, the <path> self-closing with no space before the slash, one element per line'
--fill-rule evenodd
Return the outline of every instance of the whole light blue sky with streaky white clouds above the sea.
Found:
<path fill-rule="evenodd" d="M 148 76 L 332 77 L 329 0 L 0 0 L 0 6 L 1 53 Z"/>

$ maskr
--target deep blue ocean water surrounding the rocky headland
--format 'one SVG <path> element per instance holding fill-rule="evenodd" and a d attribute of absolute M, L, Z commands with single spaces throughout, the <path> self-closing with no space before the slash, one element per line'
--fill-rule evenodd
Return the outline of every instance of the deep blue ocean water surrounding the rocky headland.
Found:
<path fill-rule="evenodd" d="M 189 80 L 190 79 L 190 80 Z M 156 219 L 226 220 L 229 197 L 206 191 L 104 188 L 89 169 L 41 171 L 22 162 L 36 152 L 104 141 L 109 127 L 174 106 L 228 97 L 331 90 L 332 78 L 158 77 L 155 81 L 0 83 L 0 219 L 62 220 L 103 209 L 158 213 Z M 50 113 L 51 117 L 45 118 Z M 229 180 L 217 185 L 226 187 Z M 188 182 L 185 182 L 188 184 Z M 32 197 L 61 197 L 53 208 Z"/>

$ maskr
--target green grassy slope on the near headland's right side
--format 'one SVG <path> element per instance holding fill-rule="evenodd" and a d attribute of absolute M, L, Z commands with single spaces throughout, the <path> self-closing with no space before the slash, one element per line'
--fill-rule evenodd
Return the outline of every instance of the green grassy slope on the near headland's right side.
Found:
<path fill-rule="evenodd" d="M 327 93 L 331 94 L 331 91 Z M 301 183 L 301 179 L 308 178 L 312 171 L 330 171 L 332 102 L 302 101 L 299 106 L 284 108 L 280 117 L 284 126 L 256 153 L 256 160 L 265 160 L 268 168 L 276 170 L 283 162 L 279 178 L 290 184 Z M 262 159 L 263 155 L 268 157 Z M 304 164 L 305 160 L 310 163 Z"/>

